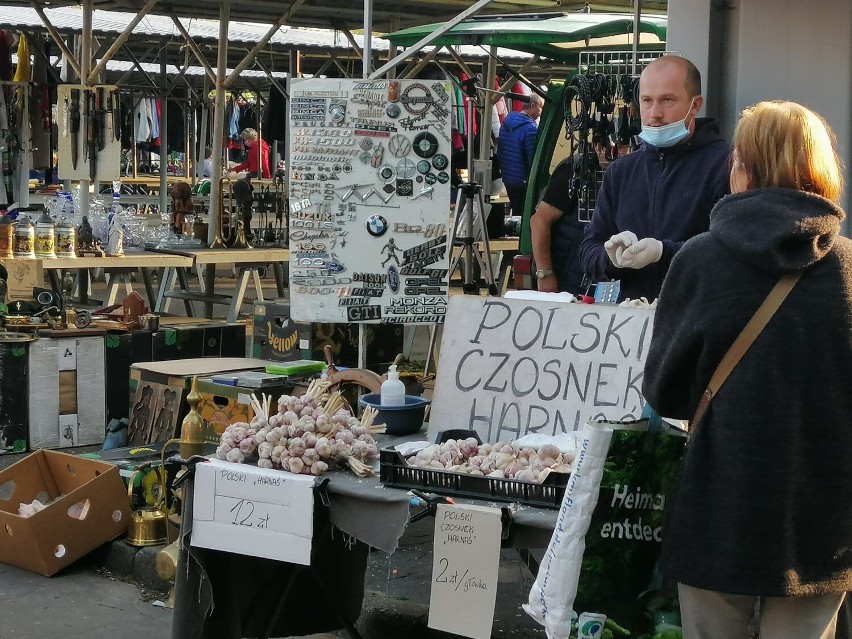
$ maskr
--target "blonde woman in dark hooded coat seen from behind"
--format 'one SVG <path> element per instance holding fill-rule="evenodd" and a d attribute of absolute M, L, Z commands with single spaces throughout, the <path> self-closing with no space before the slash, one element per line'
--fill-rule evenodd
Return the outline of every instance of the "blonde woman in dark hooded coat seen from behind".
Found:
<path fill-rule="evenodd" d="M 689 419 L 779 277 L 803 275 L 690 433 L 663 569 L 687 639 L 745 639 L 758 599 L 761 639 L 830 639 L 852 590 L 852 242 L 831 129 L 794 102 L 746 109 L 730 185 L 663 284 L 649 403 Z"/>

